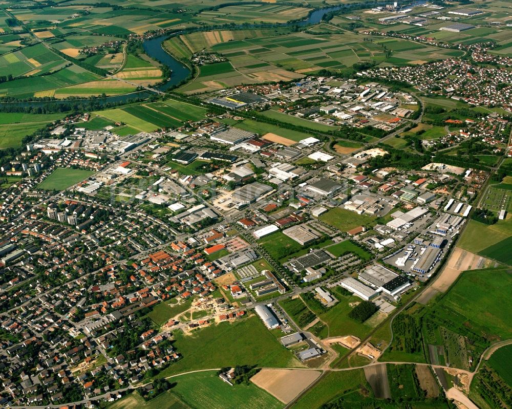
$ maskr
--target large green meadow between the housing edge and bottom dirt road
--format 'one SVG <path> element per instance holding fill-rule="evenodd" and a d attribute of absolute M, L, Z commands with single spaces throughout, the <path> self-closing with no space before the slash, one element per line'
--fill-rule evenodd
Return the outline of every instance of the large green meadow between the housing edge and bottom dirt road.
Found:
<path fill-rule="evenodd" d="M 163 370 L 159 377 L 241 364 L 274 368 L 301 366 L 256 316 L 232 324 L 221 322 L 189 336 L 181 331 L 173 332 L 173 335 L 176 339 L 174 347 L 183 359 Z"/>

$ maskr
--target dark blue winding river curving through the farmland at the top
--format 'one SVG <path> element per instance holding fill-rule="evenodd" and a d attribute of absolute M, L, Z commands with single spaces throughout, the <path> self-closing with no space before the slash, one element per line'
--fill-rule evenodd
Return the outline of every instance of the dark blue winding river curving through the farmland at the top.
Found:
<path fill-rule="evenodd" d="M 386 4 L 388 2 L 371 2 L 372 6 L 375 6 L 377 4 Z M 417 6 L 421 4 L 425 4 L 426 0 L 417 0 L 412 3 L 412 6 Z M 345 8 L 355 8 L 362 3 L 348 3 L 344 5 L 339 6 L 333 6 L 333 7 L 326 7 L 323 9 L 317 9 L 313 10 L 311 14 L 309 14 L 308 18 L 301 20 L 301 21 L 294 21 L 292 23 L 280 23 L 280 24 L 245 24 L 245 25 L 234 25 L 229 27 L 222 27 L 223 30 L 229 30 L 229 29 L 249 29 L 249 28 L 265 28 L 265 27 L 283 27 L 283 26 L 298 26 L 298 27 L 304 27 L 309 26 L 313 24 L 318 24 L 322 21 L 322 17 L 326 13 L 330 13 L 332 11 L 342 10 Z M 369 2 L 365 2 L 365 5 L 369 5 Z M 369 5 L 369 7 L 371 7 Z M 164 82 L 163 84 L 158 85 L 158 88 L 160 91 L 167 91 L 168 89 L 175 87 L 177 84 L 179 84 L 181 81 L 186 79 L 190 74 L 190 68 L 188 68 L 184 63 L 181 61 L 178 61 L 176 58 L 174 58 L 172 55 L 170 55 L 167 51 L 164 50 L 162 47 L 162 42 L 164 42 L 168 38 L 172 38 L 175 35 L 182 34 L 184 32 L 191 32 L 191 31 L 199 31 L 204 28 L 198 28 L 198 29 L 189 29 L 186 31 L 180 31 L 178 33 L 172 33 L 172 34 L 165 34 L 159 37 L 154 37 L 151 39 L 148 39 L 143 42 L 142 46 L 144 48 L 145 53 L 158 60 L 160 63 L 165 64 L 167 67 L 169 67 L 170 70 L 172 70 L 172 73 L 170 75 L 169 80 Z M 215 28 L 212 27 L 212 30 Z M 110 97 L 105 98 L 83 98 L 83 99 L 74 99 L 74 100 L 51 100 L 51 101 L 26 101 L 26 102 L 0 102 L 0 107 L 2 106 L 48 106 L 48 105 L 58 105 L 58 104 L 67 104 L 70 102 L 75 103 L 88 103 L 89 101 L 94 101 L 96 104 L 99 105 L 105 105 L 108 103 L 119 103 L 119 102 L 130 102 L 134 101 L 136 99 L 146 99 L 150 96 L 155 95 L 154 92 L 151 91 L 137 91 L 130 94 L 123 94 L 123 95 L 114 95 Z"/>

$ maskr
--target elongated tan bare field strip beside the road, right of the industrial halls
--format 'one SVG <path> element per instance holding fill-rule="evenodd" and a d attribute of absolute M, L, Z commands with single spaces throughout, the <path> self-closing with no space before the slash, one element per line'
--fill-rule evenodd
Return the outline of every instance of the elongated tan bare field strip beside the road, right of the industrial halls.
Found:
<path fill-rule="evenodd" d="M 480 264 L 480 258 L 480 256 L 470 253 L 469 251 L 462 250 L 459 247 L 455 248 L 444 269 L 437 276 L 432 286 L 426 289 L 423 294 L 418 297 L 418 303 L 426 304 L 436 294 L 445 292 L 453 283 L 455 283 L 455 280 L 462 271 L 476 268 L 473 266 L 478 266 Z M 474 261 L 475 259 L 477 259 L 476 262 Z"/>

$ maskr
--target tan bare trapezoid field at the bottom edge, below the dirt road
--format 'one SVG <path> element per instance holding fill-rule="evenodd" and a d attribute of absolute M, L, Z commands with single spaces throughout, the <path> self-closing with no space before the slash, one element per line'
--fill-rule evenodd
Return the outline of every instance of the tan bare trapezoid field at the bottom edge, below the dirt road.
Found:
<path fill-rule="evenodd" d="M 322 372 L 291 369 L 262 369 L 251 381 L 283 403 L 291 402 Z"/>

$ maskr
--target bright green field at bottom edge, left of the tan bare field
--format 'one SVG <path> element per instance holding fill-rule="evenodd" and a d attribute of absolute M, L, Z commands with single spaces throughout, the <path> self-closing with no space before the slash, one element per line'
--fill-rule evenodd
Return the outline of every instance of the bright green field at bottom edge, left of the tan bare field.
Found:
<path fill-rule="evenodd" d="M 230 386 L 216 372 L 199 372 L 171 379 L 176 386 L 171 390 L 191 407 L 225 409 L 278 409 L 284 406 L 268 392 L 250 382 L 248 385 Z"/>

